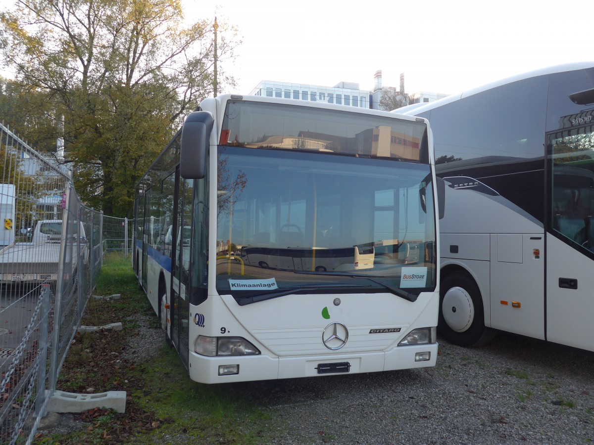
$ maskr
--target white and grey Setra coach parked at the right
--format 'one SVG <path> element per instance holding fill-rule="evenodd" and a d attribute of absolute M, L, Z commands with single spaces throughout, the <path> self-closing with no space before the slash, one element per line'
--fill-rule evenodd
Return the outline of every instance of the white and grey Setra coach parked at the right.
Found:
<path fill-rule="evenodd" d="M 594 351 L 594 63 L 396 112 L 430 120 L 446 183 L 438 332 Z"/>

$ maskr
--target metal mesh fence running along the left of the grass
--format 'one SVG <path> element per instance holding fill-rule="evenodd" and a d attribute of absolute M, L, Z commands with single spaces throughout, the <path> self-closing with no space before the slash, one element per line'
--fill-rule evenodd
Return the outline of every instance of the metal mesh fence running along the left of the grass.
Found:
<path fill-rule="evenodd" d="M 61 162 L 0 125 L 2 444 L 33 440 L 109 250 Z"/>

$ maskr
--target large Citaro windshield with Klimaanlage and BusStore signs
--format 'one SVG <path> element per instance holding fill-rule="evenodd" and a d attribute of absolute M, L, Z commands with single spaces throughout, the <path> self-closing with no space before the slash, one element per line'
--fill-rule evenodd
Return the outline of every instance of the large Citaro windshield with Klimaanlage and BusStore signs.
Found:
<path fill-rule="evenodd" d="M 428 164 L 219 147 L 218 170 L 219 294 L 434 289 Z"/>

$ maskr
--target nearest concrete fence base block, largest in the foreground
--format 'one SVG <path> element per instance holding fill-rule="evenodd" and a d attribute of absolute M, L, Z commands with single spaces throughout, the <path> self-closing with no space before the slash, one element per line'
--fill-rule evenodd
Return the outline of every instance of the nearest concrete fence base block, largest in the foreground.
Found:
<path fill-rule="evenodd" d="M 46 412 L 83 412 L 97 407 L 125 412 L 126 392 L 108 391 L 97 394 L 75 394 L 56 391 L 48 400 Z"/>

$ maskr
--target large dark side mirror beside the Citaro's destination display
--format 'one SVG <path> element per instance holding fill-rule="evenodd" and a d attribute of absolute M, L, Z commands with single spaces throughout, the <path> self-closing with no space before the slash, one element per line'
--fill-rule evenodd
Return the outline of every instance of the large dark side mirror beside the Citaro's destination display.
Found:
<path fill-rule="evenodd" d="M 214 119 L 209 112 L 193 112 L 182 126 L 179 174 L 184 179 L 202 179 L 206 174 L 206 154 Z"/>

